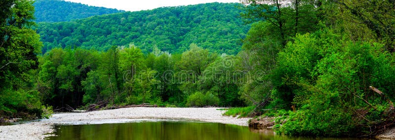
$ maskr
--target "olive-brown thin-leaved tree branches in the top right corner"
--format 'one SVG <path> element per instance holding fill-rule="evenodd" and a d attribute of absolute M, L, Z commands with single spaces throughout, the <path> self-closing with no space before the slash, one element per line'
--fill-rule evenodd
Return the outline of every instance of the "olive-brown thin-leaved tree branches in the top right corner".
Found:
<path fill-rule="evenodd" d="M 374 33 L 374 36 L 377 36 L 377 39 L 385 42 L 386 49 L 389 52 L 395 52 L 395 2 L 393 0 L 330 1 L 335 2 L 340 9 L 339 11 L 331 11 L 331 14 L 337 15 L 336 20 L 345 21 L 346 26 L 343 28 L 351 30 L 348 33 L 356 35 L 356 38 L 364 38 L 363 36 L 366 36 L 367 31 L 363 28 L 368 28 Z M 353 27 L 353 25 L 356 27 Z M 352 30 L 352 28 L 357 28 L 357 30 Z"/>

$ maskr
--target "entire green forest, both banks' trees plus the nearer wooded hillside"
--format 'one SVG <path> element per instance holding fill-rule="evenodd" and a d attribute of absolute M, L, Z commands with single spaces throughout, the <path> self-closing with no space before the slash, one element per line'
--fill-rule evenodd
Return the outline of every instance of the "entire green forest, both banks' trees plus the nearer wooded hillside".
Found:
<path fill-rule="evenodd" d="M 245 107 L 292 136 L 394 127 L 393 0 L 240 2 L 36 24 L 34 1 L 2 0 L 0 118 L 149 103 Z"/>

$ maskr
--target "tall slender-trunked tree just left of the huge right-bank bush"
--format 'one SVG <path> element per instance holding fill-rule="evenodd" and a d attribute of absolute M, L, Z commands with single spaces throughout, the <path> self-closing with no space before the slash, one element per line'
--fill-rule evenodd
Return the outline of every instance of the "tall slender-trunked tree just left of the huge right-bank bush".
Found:
<path fill-rule="evenodd" d="M 245 4 L 241 16 L 246 23 L 252 23 L 238 54 L 238 69 L 244 73 L 240 95 L 248 103 L 259 108 L 271 99 L 276 83 L 272 83 L 270 75 L 276 68 L 277 54 L 296 34 L 318 28 L 321 4 L 317 1 L 241 0 Z"/>

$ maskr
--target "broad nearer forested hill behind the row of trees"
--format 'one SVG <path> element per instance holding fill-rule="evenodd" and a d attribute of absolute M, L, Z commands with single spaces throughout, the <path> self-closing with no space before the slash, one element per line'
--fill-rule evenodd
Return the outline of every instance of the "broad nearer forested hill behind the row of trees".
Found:
<path fill-rule="evenodd" d="M 237 54 L 249 25 L 239 17 L 239 3 L 206 3 L 93 16 L 72 22 L 39 23 L 42 52 L 76 46 L 107 50 L 132 43 L 143 52 L 153 46 L 170 53 L 191 43 L 211 52 Z"/>

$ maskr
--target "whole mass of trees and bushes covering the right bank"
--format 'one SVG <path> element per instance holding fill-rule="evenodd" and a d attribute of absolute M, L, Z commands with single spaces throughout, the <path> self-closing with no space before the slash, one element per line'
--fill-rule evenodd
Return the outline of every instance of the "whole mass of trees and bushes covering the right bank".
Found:
<path fill-rule="evenodd" d="M 269 1 L 243 0 L 253 25 L 238 55 L 258 78 L 240 95 L 255 114 L 276 114 L 287 135 L 373 136 L 393 126 L 394 3 Z"/>

